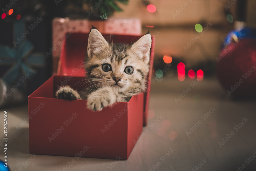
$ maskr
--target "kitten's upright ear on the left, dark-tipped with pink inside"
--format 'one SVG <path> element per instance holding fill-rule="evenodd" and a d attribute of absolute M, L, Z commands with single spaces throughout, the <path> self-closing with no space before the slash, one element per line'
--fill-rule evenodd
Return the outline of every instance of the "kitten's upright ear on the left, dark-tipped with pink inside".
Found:
<path fill-rule="evenodd" d="M 105 48 L 109 48 L 108 42 L 104 39 L 99 30 L 92 28 L 88 38 L 88 57 L 91 58 L 92 54 L 100 53 L 101 50 Z"/>

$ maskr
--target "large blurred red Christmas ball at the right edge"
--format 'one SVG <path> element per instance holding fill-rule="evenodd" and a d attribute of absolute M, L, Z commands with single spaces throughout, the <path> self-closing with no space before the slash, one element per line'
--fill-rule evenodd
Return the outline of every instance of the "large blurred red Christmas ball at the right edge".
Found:
<path fill-rule="evenodd" d="M 256 94 L 256 40 L 232 42 L 216 59 L 219 81 L 229 95 Z"/>

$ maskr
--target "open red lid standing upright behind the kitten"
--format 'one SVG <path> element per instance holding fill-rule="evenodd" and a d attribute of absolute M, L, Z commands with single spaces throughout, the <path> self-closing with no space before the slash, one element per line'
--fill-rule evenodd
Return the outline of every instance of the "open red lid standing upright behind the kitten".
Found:
<path fill-rule="evenodd" d="M 84 59 L 86 57 L 89 33 L 72 33 L 63 40 L 57 75 L 61 76 L 85 76 Z M 142 36 L 130 35 L 102 35 L 106 40 L 111 38 L 114 43 L 131 44 Z M 155 37 L 152 36 L 150 50 L 150 73 L 148 74 L 147 92 L 144 93 L 144 125 L 147 123 L 147 108 L 153 68 Z"/>

